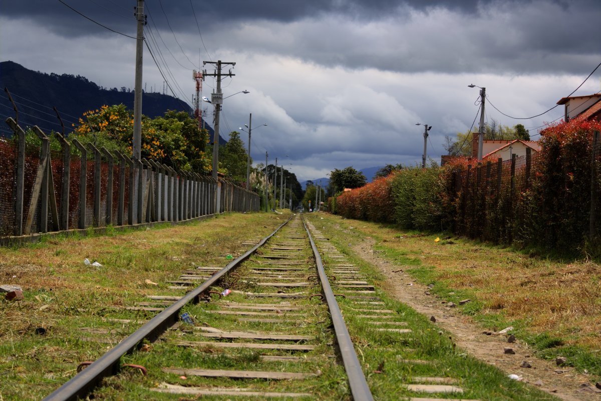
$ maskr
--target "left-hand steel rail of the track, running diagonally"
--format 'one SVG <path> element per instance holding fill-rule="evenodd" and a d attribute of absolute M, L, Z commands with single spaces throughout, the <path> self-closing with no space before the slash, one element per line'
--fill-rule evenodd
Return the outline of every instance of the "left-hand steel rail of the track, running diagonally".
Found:
<path fill-rule="evenodd" d="M 76 400 L 78 398 L 84 398 L 90 393 L 96 385 L 107 376 L 114 375 L 119 370 L 119 361 L 123 355 L 132 352 L 140 341 L 148 339 L 150 341 L 156 340 L 163 332 L 169 327 L 174 325 L 179 320 L 179 311 L 188 302 L 198 302 L 200 295 L 209 289 L 210 286 L 215 284 L 223 275 L 229 272 L 231 269 L 237 268 L 240 263 L 248 259 L 260 246 L 262 246 L 267 240 L 269 240 L 280 228 L 288 224 L 292 216 L 279 225 L 273 233 L 264 237 L 257 245 L 246 251 L 245 254 L 228 263 L 225 268 L 221 269 L 217 274 L 213 275 L 209 280 L 205 281 L 200 286 L 180 298 L 174 304 L 165 308 L 159 314 L 150 319 L 141 328 L 124 338 L 117 346 L 109 350 L 106 354 L 102 355 L 99 359 L 90 364 L 87 368 L 73 376 L 68 382 L 63 384 L 61 387 L 53 391 L 49 396 L 44 398 L 44 401 L 63 401 L 63 400 Z"/>

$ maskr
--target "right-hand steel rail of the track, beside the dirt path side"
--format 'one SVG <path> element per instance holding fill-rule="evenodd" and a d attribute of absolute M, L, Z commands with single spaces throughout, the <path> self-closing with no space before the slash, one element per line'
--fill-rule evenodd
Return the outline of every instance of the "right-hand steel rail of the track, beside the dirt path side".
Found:
<path fill-rule="evenodd" d="M 361 364 L 359 364 L 355 347 L 353 347 L 353 341 L 350 339 L 349 330 L 346 328 L 346 323 L 344 323 L 344 318 L 342 317 L 340 307 L 338 307 L 338 302 L 336 301 L 334 292 L 328 281 L 328 276 L 323 269 L 322 257 L 320 256 L 319 251 L 317 251 L 317 246 L 315 246 L 309 228 L 307 227 L 307 224 L 305 224 L 305 219 L 302 219 L 302 224 L 305 226 L 305 230 L 307 230 L 307 235 L 309 236 L 311 248 L 313 249 L 313 254 L 315 256 L 317 273 L 319 273 L 323 294 L 326 297 L 326 302 L 328 302 L 330 316 L 332 317 L 334 331 L 336 332 L 336 340 L 344 363 L 344 370 L 349 378 L 350 393 L 353 395 L 353 400 L 355 401 L 373 401 L 373 396 L 367 385 L 367 380 L 361 369 Z"/>

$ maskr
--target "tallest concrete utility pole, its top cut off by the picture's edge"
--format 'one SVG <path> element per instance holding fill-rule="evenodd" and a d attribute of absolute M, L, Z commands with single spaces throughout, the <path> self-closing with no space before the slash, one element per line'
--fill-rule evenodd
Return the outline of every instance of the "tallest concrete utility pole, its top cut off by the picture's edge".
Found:
<path fill-rule="evenodd" d="M 139 161 L 142 149 L 142 55 L 144 54 L 144 0 L 138 0 L 135 12 L 138 28 L 136 29 L 136 79 L 133 97 L 133 139 L 132 158 Z"/>

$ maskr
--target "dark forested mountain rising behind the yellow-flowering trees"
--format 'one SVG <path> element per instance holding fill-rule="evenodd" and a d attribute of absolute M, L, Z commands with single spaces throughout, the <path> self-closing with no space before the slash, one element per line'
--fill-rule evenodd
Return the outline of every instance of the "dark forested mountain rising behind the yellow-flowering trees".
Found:
<path fill-rule="evenodd" d="M 66 132 L 85 111 L 99 109 L 102 105 L 123 103 L 133 110 L 134 92 L 129 88 L 104 88 L 88 81 L 81 75 L 43 73 L 28 70 L 13 61 L 0 63 L 0 88 L 8 88 L 19 109 L 19 125 L 22 127 L 37 125 L 45 132 L 61 130 L 53 107 L 63 118 Z M 15 117 L 13 105 L 5 92 L 0 93 L 0 117 L 5 120 Z M 192 113 L 192 108 L 177 99 L 157 92 L 142 94 L 142 114 L 154 118 L 164 115 L 167 110 Z M 213 137 L 213 128 L 206 125 Z M 0 136 L 10 136 L 12 132 L 5 124 L 0 124 Z M 219 143 L 226 141 L 219 136 Z"/>

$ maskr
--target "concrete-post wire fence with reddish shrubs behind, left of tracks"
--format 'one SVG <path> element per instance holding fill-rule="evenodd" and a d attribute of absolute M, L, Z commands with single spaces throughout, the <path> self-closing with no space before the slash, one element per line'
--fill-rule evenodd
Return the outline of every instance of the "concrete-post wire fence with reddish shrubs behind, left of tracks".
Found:
<path fill-rule="evenodd" d="M 84 147 L 59 133 L 63 150 L 53 152 L 38 127 L 41 148 L 26 147 L 23 129 L 6 122 L 14 138 L 0 141 L 0 237 L 259 210 L 257 194 L 228 180 Z"/>

